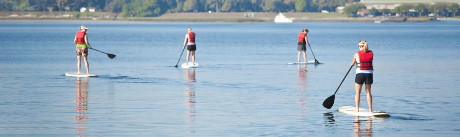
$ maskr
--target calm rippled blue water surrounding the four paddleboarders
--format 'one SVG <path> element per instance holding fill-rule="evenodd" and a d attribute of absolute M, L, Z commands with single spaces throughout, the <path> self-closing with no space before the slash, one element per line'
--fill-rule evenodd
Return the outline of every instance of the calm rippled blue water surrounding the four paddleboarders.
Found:
<path fill-rule="evenodd" d="M 64 75 L 80 25 L 117 55 L 90 50 L 98 77 Z M 174 68 L 188 27 L 200 68 Z M 324 64 L 287 65 L 303 28 Z M 0 136 L 459 136 L 459 37 L 460 22 L 0 22 Z M 355 68 L 322 107 L 361 39 L 375 54 L 373 109 L 391 117 L 337 111 L 354 106 Z"/>

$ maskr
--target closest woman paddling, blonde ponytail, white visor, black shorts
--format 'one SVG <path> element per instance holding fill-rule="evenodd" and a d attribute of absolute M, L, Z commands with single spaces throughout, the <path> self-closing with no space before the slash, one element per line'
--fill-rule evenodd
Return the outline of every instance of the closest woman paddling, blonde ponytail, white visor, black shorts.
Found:
<path fill-rule="evenodd" d="M 359 50 L 358 53 L 355 53 L 353 56 L 353 60 L 351 61 L 351 66 L 355 65 L 356 63 L 356 77 L 355 77 L 355 104 L 356 110 L 355 112 L 359 111 L 359 101 L 360 101 L 360 94 L 361 89 L 363 88 L 363 84 L 366 84 L 366 94 L 368 96 L 368 105 L 369 105 L 369 112 L 372 112 L 372 94 L 370 94 L 370 87 L 373 83 L 373 68 L 372 68 L 372 59 L 374 58 L 374 53 L 369 50 L 368 42 L 365 40 L 361 40 L 358 43 Z"/>

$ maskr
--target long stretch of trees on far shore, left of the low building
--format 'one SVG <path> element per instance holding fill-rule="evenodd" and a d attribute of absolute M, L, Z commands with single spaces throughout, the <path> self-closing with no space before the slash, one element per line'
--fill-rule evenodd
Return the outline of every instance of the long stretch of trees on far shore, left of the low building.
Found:
<path fill-rule="evenodd" d="M 127 17 L 155 17 L 175 12 L 321 12 L 359 0 L 0 0 L 0 11 L 98 11 Z"/>

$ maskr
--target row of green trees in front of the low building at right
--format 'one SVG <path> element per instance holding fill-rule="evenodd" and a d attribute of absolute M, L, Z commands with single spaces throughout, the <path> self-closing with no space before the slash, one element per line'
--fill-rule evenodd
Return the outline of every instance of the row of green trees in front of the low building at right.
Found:
<path fill-rule="evenodd" d="M 366 8 L 363 4 L 351 4 L 345 7 L 344 13 L 349 16 L 356 16 L 358 11 Z M 384 16 L 389 13 L 397 13 L 402 16 L 421 17 L 433 14 L 433 16 L 443 17 L 455 17 L 459 15 L 460 5 L 458 3 L 435 3 L 435 4 L 423 4 L 419 3 L 416 5 L 402 4 L 395 7 L 394 9 L 381 9 L 377 10 L 371 8 L 368 13 L 373 16 Z"/>

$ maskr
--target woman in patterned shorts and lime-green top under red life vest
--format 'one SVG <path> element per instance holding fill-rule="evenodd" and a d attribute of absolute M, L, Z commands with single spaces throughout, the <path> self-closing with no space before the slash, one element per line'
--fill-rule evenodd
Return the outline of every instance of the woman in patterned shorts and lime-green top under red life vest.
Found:
<path fill-rule="evenodd" d="M 73 39 L 73 42 L 77 45 L 77 49 L 75 50 L 75 54 L 77 55 L 77 74 L 80 74 L 81 56 L 83 56 L 83 59 L 85 60 L 86 73 L 90 74 L 90 65 L 88 64 L 88 48 L 91 48 L 91 46 L 90 43 L 88 43 L 88 35 L 86 34 L 88 28 L 85 25 L 82 25 L 78 29 L 80 29 L 80 31 L 75 34 L 75 39 Z"/>

